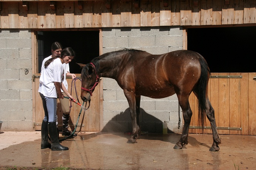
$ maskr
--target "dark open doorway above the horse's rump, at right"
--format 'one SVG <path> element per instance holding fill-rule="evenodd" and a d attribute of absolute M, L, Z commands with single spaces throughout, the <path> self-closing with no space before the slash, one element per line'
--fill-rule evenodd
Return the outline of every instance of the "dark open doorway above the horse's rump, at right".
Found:
<path fill-rule="evenodd" d="M 188 50 L 200 53 L 212 73 L 256 72 L 256 27 L 188 28 Z"/>

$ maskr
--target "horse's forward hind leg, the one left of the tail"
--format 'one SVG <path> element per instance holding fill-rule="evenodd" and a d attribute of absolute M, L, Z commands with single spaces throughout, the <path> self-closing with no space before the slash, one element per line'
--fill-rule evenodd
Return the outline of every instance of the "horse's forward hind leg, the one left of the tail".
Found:
<path fill-rule="evenodd" d="M 181 139 L 179 139 L 179 142 L 176 143 L 176 145 L 174 146 L 174 149 L 182 149 L 183 145 L 188 144 L 188 130 L 189 130 L 189 124 L 192 117 L 192 111 L 188 101 L 189 95 L 182 96 L 181 94 L 177 94 L 177 96 L 179 100 L 179 105 L 181 106 L 181 109 L 182 109 L 184 126 L 183 126 Z"/>

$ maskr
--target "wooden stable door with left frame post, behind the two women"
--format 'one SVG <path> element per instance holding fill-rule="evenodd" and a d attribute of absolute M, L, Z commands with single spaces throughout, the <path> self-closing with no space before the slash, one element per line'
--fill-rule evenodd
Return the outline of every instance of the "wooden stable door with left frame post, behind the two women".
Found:
<path fill-rule="evenodd" d="M 44 110 L 43 110 L 43 105 L 42 105 L 42 100 L 41 97 L 38 93 L 38 87 L 39 87 L 39 78 L 40 78 L 40 73 L 36 73 L 36 67 L 38 67 L 37 64 L 37 41 L 36 41 L 36 34 L 32 32 L 32 42 L 33 42 L 33 48 L 32 48 L 32 65 L 33 65 L 33 82 L 32 82 L 32 89 L 33 89 L 33 130 L 41 130 L 41 123 L 44 118 Z M 102 51 L 100 50 L 100 53 Z M 76 74 L 77 77 L 80 77 L 81 74 Z M 71 93 L 71 83 L 72 83 L 72 78 L 67 77 L 67 82 L 68 82 L 68 91 Z M 81 82 L 80 80 L 76 80 L 75 83 L 76 89 L 77 89 L 77 95 L 78 95 L 78 100 L 82 104 L 82 100 L 80 98 L 80 93 L 81 93 Z M 77 100 L 76 93 L 75 93 L 75 86 L 74 82 L 72 84 L 72 96 Z M 103 91 L 102 91 L 102 82 L 98 84 L 98 86 L 95 88 L 93 96 L 91 96 L 91 104 L 90 108 L 88 110 L 82 110 L 79 121 L 78 121 L 78 126 L 76 131 L 91 131 L 91 132 L 98 132 L 101 131 L 103 128 Z M 84 103 L 85 105 L 85 103 Z M 88 104 L 87 104 L 88 107 Z M 71 112 L 70 112 L 70 121 L 69 121 L 69 126 L 70 130 L 73 130 L 77 120 L 78 120 L 78 115 L 81 110 L 81 107 L 75 103 L 72 103 L 71 107 Z M 58 101 L 58 109 L 57 109 L 57 114 L 58 114 L 58 128 L 61 130 L 62 128 L 62 111 L 61 107 L 59 106 L 59 101 Z"/>

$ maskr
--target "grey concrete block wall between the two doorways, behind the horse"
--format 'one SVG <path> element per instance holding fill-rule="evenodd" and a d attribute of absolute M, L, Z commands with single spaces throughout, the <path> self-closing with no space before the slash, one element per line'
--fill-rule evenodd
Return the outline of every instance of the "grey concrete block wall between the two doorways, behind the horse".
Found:
<path fill-rule="evenodd" d="M 103 53 L 124 48 L 139 49 L 152 54 L 163 54 L 182 49 L 182 27 L 124 27 L 102 28 Z M 102 131 L 131 131 L 129 105 L 123 90 L 113 79 L 102 77 L 103 122 Z M 141 97 L 140 122 L 142 131 L 162 132 L 162 122 L 168 124 L 168 131 L 179 133 L 179 109 L 176 94 L 162 99 Z"/>

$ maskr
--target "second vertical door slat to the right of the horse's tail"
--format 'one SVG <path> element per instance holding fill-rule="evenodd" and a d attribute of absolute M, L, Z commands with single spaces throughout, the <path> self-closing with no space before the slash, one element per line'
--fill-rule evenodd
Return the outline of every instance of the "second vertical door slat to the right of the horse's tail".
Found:
<path fill-rule="evenodd" d="M 219 73 L 229 75 L 229 73 Z M 228 78 L 219 79 L 219 126 L 229 127 L 229 80 Z M 219 130 L 220 134 L 229 134 L 228 130 Z"/>

